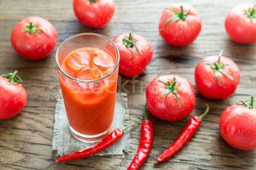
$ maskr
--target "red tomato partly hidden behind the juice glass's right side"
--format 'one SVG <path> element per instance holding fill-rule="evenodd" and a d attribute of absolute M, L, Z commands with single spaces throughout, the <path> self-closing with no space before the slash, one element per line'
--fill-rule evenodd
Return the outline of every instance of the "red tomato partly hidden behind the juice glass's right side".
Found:
<path fill-rule="evenodd" d="M 113 42 L 120 54 L 119 73 L 126 77 L 142 74 L 153 56 L 153 48 L 148 40 L 137 34 L 125 33 L 117 36 Z"/>

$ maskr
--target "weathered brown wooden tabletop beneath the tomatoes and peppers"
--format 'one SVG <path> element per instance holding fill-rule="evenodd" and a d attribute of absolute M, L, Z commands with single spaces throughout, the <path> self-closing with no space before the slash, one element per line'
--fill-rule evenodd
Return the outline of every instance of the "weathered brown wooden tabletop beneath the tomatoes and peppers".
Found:
<path fill-rule="evenodd" d="M 115 0 L 116 11 L 111 22 L 102 29 L 83 26 L 73 13 L 71 0 L 0 0 L 0 73 L 17 69 L 23 78 L 28 100 L 24 110 L 11 120 L 0 121 L 1 170 L 125 170 L 134 158 L 140 140 L 140 128 L 131 131 L 131 153 L 122 156 L 90 156 L 66 163 L 55 163 L 52 151 L 55 95 L 60 86 L 55 68 L 58 45 L 74 34 L 94 32 L 113 39 L 133 31 L 147 38 L 154 48 L 154 56 L 144 73 L 132 88 L 131 79 L 121 77 L 127 84 L 119 91 L 128 92 L 131 122 L 143 119 L 145 88 L 157 74 L 172 72 L 189 79 L 195 87 L 194 68 L 199 59 L 216 55 L 223 48 L 224 55 L 233 59 L 241 70 L 241 82 L 236 93 L 225 100 L 206 99 L 195 88 L 196 105 L 190 116 L 178 122 L 163 122 L 151 116 L 154 122 L 154 144 L 143 170 L 180 169 L 256 169 L 256 150 L 242 151 L 230 147 L 218 132 L 218 120 L 229 105 L 256 95 L 256 44 L 240 45 L 232 42 L 224 29 L 227 12 L 239 0 L 186 0 L 201 14 L 202 30 L 195 42 L 186 47 L 172 47 L 160 37 L 158 22 L 164 8 L 178 0 Z M 255 3 L 248 0 L 248 3 Z M 58 32 L 58 42 L 49 57 L 33 62 L 19 57 L 10 43 L 12 28 L 29 16 L 49 20 Z M 164 164 L 153 165 L 154 159 L 177 138 L 192 115 L 210 106 L 200 129 L 190 142 Z"/>

